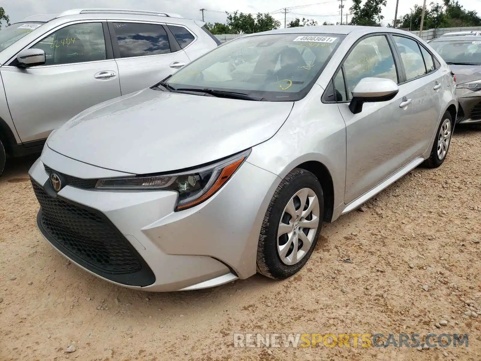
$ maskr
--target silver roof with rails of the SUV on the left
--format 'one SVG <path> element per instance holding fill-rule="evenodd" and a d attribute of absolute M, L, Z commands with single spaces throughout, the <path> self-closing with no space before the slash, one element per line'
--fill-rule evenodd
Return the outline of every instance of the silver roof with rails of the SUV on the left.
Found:
<path fill-rule="evenodd" d="M 90 9 L 72 9 L 66 10 L 62 13 L 56 14 L 38 14 L 26 17 L 23 22 L 31 22 L 31 21 L 38 21 L 38 22 L 49 22 L 53 19 L 58 19 L 65 16 L 72 16 L 72 15 L 84 15 L 89 14 L 90 17 L 94 15 L 115 15 L 116 18 L 119 16 L 125 16 L 126 18 L 131 18 L 132 16 L 162 16 L 162 17 L 173 17 L 173 18 L 180 18 L 183 19 L 182 15 L 176 13 L 167 13 L 167 12 L 152 12 L 147 10 L 129 10 L 129 9 L 105 9 L 105 8 L 90 8 Z M 83 17 L 83 16 L 82 16 Z M 96 17 L 95 17 L 96 18 Z"/>

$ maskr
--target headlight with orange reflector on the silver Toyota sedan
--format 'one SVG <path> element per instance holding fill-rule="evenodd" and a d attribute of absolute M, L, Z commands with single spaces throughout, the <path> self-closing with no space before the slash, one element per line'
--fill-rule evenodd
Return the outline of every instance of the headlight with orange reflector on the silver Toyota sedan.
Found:
<path fill-rule="evenodd" d="M 217 192 L 241 166 L 251 150 L 186 172 L 145 177 L 110 178 L 97 181 L 103 190 L 176 191 L 176 211 L 197 206 Z"/>

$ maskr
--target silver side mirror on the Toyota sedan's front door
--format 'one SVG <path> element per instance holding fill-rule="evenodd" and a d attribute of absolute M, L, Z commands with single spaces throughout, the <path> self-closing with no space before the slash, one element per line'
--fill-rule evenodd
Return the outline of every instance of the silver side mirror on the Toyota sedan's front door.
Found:
<path fill-rule="evenodd" d="M 362 112 L 364 103 L 388 102 L 399 92 L 399 87 L 391 79 L 365 77 L 354 87 L 349 110 L 353 114 Z"/>

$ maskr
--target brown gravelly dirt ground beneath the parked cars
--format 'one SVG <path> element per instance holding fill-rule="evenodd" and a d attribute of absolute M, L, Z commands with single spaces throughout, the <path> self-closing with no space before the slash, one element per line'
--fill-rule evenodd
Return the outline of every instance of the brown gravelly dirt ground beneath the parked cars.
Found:
<path fill-rule="evenodd" d="M 468 300 L 481 309 L 481 129 L 457 128 L 441 168 L 326 225 L 295 277 L 177 293 L 114 286 L 53 250 L 35 223 L 34 159 L 0 179 L 1 361 L 481 360 L 481 315 L 464 314 Z M 236 332 L 469 335 L 468 348 L 294 349 L 234 348 Z"/>

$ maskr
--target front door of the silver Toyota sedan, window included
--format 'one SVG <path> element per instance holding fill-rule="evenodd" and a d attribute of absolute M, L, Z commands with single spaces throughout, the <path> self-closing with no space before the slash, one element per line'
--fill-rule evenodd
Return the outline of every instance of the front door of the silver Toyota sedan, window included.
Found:
<path fill-rule="evenodd" d="M 383 77 L 398 83 L 398 74 L 389 42 L 384 35 L 362 39 L 343 64 L 348 97 L 364 77 Z M 388 178 L 406 164 L 405 122 L 412 107 L 405 102 L 408 88 L 388 102 L 365 103 L 359 114 L 340 103 L 346 124 L 346 190 L 347 204 Z"/>

